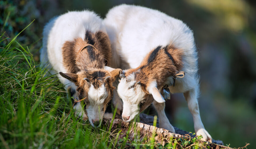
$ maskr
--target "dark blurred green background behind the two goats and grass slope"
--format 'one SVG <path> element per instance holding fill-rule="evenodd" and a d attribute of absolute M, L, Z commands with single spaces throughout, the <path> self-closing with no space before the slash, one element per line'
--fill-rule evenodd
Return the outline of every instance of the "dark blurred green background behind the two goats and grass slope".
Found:
<path fill-rule="evenodd" d="M 122 3 L 160 10 L 194 31 L 201 76 L 198 100 L 206 130 L 230 147 L 251 143 L 247 148 L 256 148 L 256 1 L 7 0 L 0 1 L 0 30 L 13 38 L 35 19 L 17 40 L 39 61 L 42 30 L 50 18 L 83 9 L 104 18 L 111 7 Z M 174 94 L 166 107 L 174 126 L 194 131 L 182 94 Z"/>

